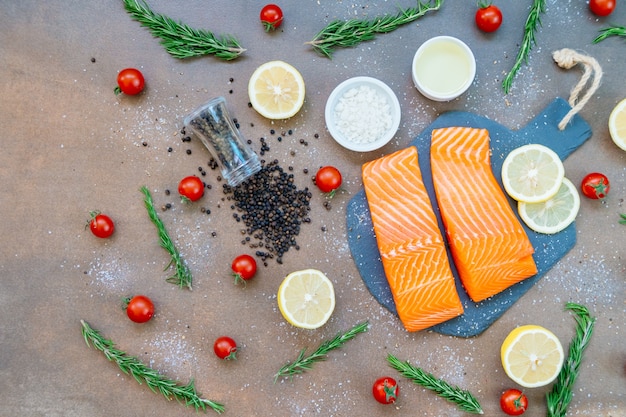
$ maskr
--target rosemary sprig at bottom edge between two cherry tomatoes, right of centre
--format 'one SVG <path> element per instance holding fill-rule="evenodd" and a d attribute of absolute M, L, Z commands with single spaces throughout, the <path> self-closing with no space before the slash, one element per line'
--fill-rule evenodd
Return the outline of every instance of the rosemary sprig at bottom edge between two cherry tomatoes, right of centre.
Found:
<path fill-rule="evenodd" d="M 455 403 L 460 410 L 468 413 L 483 414 L 483 409 L 478 403 L 478 400 L 469 391 L 462 390 L 457 386 L 452 386 L 446 381 L 425 372 L 423 369 L 411 365 L 408 361 L 401 362 L 392 354 L 387 355 L 387 362 L 389 362 L 392 368 L 400 372 L 402 376 L 433 391 L 441 398 Z"/>

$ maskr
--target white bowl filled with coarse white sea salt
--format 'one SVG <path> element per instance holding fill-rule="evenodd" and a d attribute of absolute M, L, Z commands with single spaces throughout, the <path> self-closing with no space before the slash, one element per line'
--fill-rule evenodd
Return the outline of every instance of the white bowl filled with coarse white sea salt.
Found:
<path fill-rule="evenodd" d="M 394 92 L 372 77 L 354 77 L 328 96 L 326 127 L 344 148 L 368 152 L 387 144 L 400 126 L 400 103 Z"/>

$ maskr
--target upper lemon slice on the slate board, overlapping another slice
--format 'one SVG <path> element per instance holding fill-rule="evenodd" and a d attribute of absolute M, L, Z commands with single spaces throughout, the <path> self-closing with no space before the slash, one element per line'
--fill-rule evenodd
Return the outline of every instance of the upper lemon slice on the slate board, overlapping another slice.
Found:
<path fill-rule="evenodd" d="M 538 144 L 520 146 L 502 164 L 502 184 L 517 201 L 539 203 L 554 196 L 565 175 L 561 158 Z"/>

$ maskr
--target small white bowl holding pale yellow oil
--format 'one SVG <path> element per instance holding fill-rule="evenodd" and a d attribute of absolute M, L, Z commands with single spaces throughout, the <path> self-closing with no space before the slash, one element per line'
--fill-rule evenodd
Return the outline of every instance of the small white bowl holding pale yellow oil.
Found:
<path fill-rule="evenodd" d="M 463 94 L 476 76 L 472 50 L 452 36 L 436 36 L 415 52 L 411 67 L 415 87 L 435 101 L 450 101 Z"/>

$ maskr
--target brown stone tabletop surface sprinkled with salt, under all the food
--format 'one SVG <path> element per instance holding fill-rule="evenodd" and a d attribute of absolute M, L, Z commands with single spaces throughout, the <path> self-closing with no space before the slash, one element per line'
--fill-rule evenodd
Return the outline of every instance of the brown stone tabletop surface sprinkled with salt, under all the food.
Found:
<path fill-rule="evenodd" d="M 606 127 L 611 109 L 626 97 L 625 46 L 619 39 L 592 44 L 600 28 L 626 21 L 626 8 L 618 4 L 611 17 L 599 19 L 584 2 L 548 1 L 537 46 L 505 95 L 500 83 L 514 62 L 530 2 L 500 3 L 504 24 L 494 34 L 474 27 L 474 2 L 445 1 L 440 11 L 337 50 L 330 60 L 304 44 L 330 20 L 393 13 L 397 4 L 414 2 L 288 0 L 281 4 L 283 26 L 268 34 L 258 20 L 261 3 L 149 1 L 155 11 L 190 26 L 235 35 L 247 51 L 226 63 L 172 58 L 130 18 L 122 1 L 0 1 L 0 415 L 194 415 L 87 348 L 81 319 L 165 375 L 193 379 L 205 398 L 225 404 L 226 415 L 464 414 L 397 375 L 386 365 L 388 353 L 472 391 L 485 415 L 500 415 L 499 395 L 514 386 L 500 366 L 501 341 L 515 326 L 535 323 L 553 330 L 567 347 L 574 334 L 574 319 L 564 312 L 568 301 L 586 305 L 598 318 L 570 415 L 626 415 L 626 226 L 618 224 L 619 213 L 626 212 L 626 153 Z M 410 65 L 421 42 L 444 34 L 473 48 L 477 77 L 459 99 L 436 103 L 412 86 Z M 579 67 L 565 71 L 553 63 L 551 53 L 563 47 L 591 54 L 605 72 L 581 111 L 593 137 L 565 161 L 566 175 L 578 183 L 587 172 L 606 173 L 609 197 L 583 199 L 576 246 L 483 334 L 463 339 L 407 333 L 367 292 L 347 245 L 345 207 L 362 187 L 360 165 L 406 146 L 448 110 L 476 112 L 513 129 L 525 125 L 555 97 L 567 98 L 582 74 Z M 304 107 L 291 120 L 271 122 L 248 107 L 248 78 L 272 59 L 294 65 L 306 82 Z M 116 74 L 125 67 L 143 71 L 147 87 L 141 95 L 113 94 Z M 340 148 L 324 123 L 332 89 L 357 75 L 386 82 L 402 108 L 396 137 L 365 154 Z M 300 250 L 290 250 L 283 264 L 261 265 L 246 288 L 233 285 L 230 261 L 254 250 L 241 243 L 242 226 L 223 199 L 217 171 L 207 167 L 208 152 L 198 140 L 183 142 L 179 133 L 190 110 L 218 95 L 226 97 L 253 147 L 258 151 L 259 138 L 267 138 L 264 158 L 293 167 L 300 187 L 313 187 L 311 175 L 328 164 L 339 167 L 345 181 L 329 210 L 311 188 L 311 223 L 298 236 Z M 289 130 L 292 135 L 283 134 Z M 183 205 L 177 183 L 198 167 L 207 170 L 212 189 Z M 159 213 L 193 272 L 192 292 L 165 282 L 168 256 L 147 217 L 142 185 L 159 210 L 172 204 Z M 112 238 L 99 240 L 85 230 L 95 209 L 116 221 Z M 335 313 L 315 331 L 291 327 L 276 307 L 282 278 L 304 268 L 320 269 L 335 283 Z M 157 309 L 143 325 L 130 322 L 120 308 L 123 297 L 138 293 L 151 297 Z M 369 331 L 326 362 L 273 383 L 274 373 L 301 349 L 312 350 L 363 320 L 369 320 Z M 223 334 L 241 345 L 236 362 L 222 363 L 212 352 L 213 340 Z M 384 374 L 400 382 L 395 406 L 371 397 L 371 384 Z M 527 390 L 527 415 L 545 415 L 547 390 Z"/>

